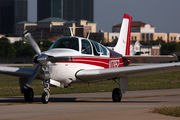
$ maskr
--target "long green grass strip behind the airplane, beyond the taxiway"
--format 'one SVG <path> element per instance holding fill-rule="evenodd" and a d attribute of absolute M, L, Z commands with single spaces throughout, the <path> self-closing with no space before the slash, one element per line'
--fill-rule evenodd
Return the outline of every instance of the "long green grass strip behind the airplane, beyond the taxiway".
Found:
<path fill-rule="evenodd" d="M 26 67 L 26 66 L 25 66 Z M 32 67 L 28 67 L 32 68 Z M 33 81 L 31 87 L 35 95 L 43 93 L 44 86 L 41 80 Z M 92 92 L 112 92 L 119 87 L 114 81 L 104 81 L 98 83 L 72 83 L 68 88 L 50 87 L 51 94 L 68 93 L 92 93 Z M 180 88 L 180 71 L 145 75 L 129 79 L 127 91 L 135 90 L 157 90 Z M 0 74 L 0 96 L 20 96 L 19 78 Z"/>

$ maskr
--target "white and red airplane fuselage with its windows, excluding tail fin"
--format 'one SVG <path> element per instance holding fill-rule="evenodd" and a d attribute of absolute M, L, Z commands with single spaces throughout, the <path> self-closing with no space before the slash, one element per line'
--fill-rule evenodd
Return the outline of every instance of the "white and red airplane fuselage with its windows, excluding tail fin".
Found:
<path fill-rule="evenodd" d="M 111 57 L 113 53 L 103 45 L 80 37 L 60 38 L 48 51 L 42 52 L 43 54 L 45 58 L 48 56 L 48 59 L 53 60 L 38 59 L 42 62 L 40 78 L 64 84 L 86 81 L 76 77 L 76 73 L 80 70 L 123 67 L 120 54 Z"/>

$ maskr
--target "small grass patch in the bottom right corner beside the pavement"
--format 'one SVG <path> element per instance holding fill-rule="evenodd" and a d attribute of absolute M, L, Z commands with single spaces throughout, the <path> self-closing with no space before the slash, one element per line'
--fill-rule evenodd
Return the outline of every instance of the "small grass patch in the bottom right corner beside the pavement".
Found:
<path fill-rule="evenodd" d="M 154 108 L 151 112 L 168 115 L 168 116 L 180 117 L 180 107 Z"/>

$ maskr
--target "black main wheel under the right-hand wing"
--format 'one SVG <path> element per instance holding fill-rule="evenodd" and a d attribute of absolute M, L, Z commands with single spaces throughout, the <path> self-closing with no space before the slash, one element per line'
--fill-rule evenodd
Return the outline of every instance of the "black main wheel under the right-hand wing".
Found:
<path fill-rule="evenodd" d="M 122 94 L 119 88 L 114 88 L 112 92 L 113 102 L 121 102 Z"/>

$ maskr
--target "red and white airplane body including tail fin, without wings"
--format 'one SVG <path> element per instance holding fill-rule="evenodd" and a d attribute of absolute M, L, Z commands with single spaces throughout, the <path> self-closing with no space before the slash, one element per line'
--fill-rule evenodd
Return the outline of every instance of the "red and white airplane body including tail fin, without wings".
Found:
<path fill-rule="evenodd" d="M 82 81 L 77 76 L 74 76 L 80 70 L 118 68 L 129 65 L 130 61 L 123 60 L 120 53 L 129 55 L 131 20 L 132 17 L 130 15 L 124 14 L 122 29 L 114 51 L 86 38 L 69 36 L 57 39 L 48 51 L 42 53 L 47 56 L 53 55 L 55 58 L 65 58 L 65 60 L 54 61 L 57 67 L 52 66 L 51 62 L 46 63 L 50 78 L 62 82 L 61 84 L 70 84 L 71 82 Z M 37 58 L 35 57 L 34 59 Z M 83 79 L 83 81 L 86 80 Z"/>

